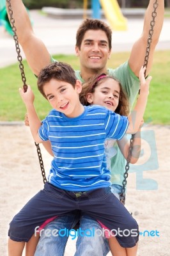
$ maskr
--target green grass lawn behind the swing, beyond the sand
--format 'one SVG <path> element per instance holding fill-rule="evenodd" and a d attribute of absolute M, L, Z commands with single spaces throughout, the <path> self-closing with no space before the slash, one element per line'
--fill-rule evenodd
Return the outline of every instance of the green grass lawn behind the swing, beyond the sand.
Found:
<path fill-rule="evenodd" d="M 118 67 L 127 60 L 129 52 L 114 53 L 108 62 L 108 67 Z M 64 61 L 79 69 L 79 59 L 73 55 L 57 55 L 56 60 Z M 152 124 L 170 124 L 170 51 L 157 51 L 153 61 L 148 106 L 144 115 L 146 122 Z M 36 88 L 36 77 L 24 61 L 27 84 L 31 84 L 35 92 L 35 107 L 38 115 L 43 119 L 50 110 L 50 105 Z M 24 120 L 26 108 L 20 99 L 18 88 L 22 87 L 22 80 L 18 64 L 0 69 L 0 120 L 19 121 Z"/>

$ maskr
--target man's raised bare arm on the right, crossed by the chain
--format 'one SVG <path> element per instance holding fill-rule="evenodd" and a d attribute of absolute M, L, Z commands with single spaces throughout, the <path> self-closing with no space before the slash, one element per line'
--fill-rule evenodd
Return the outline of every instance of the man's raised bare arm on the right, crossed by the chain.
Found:
<path fill-rule="evenodd" d="M 144 56 L 146 54 L 147 40 L 149 36 L 149 31 L 150 31 L 150 22 L 152 19 L 151 13 L 153 12 L 153 3 L 155 3 L 155 0 L 150 0 L 150 3 L 148 5 L 148 8 L 144 16 L 143 33 L 139 38 L 139 40 L 137 40 L 137 42 L 135 42 L 135 44 L 133 45 L 130 58 L 128 60 L 130 68 L 132 69 L 132 71 L 137 77 L 139 77 L 139 70 L 141 69 L 141 66 L 143 66 L 144 64 Z M 151 70 L 151 65 L 153 63 L 153 53 L 158 43 L 158 38 L 160 36 L 163 21 L 164 21 L 164 0 L 158 0 L 157 17 L 155 18 L 155 26 L 153 29 L 150 57 L 148 61 L 146 75 L 148 75 L 148 73 Z"/>

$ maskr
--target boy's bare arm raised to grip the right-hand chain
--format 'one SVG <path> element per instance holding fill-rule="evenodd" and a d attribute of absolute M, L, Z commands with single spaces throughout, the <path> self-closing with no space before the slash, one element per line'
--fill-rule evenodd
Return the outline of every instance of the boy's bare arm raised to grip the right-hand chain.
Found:
<path fill-rule="evenodd" d="M 146 109 L 151 76 L 148 77 L 148 79 L 145 79 L 144 77 L 145 70 L 146 70 L 145 67 L 141 67 L 141 70 L 139 73 L 140 94 L 137 98 L 137 102 L 135 104 L 134 109 L 130 112 L 130 115 L 128 115 L 129 125 L 127 129 L 127 133 L 130 133 L 130 134 L 135 134 L 139 130 L 139 126 L 141 124 L 141 120 L 143 120 L 144 111 Z"/>

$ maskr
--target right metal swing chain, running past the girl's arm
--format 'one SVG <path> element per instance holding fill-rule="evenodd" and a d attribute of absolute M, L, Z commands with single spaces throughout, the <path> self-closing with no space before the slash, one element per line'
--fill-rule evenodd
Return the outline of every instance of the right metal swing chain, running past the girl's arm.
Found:
<path fill-rule="evenodd" d="M 150 22 L 150 30 L 149 30 L 149 36 L 147 40 L 147 47 L 146 47 L 146 54 L 144 57 L 144 67 L 147 68 L 148 66 L 148 60 L 150 56 L 150 47 L 151 47 L 151 42 L 152 42 L 152 36 L 153 36 L 153 28 L 155 26 L 155 18 L 157 17 L 157 8 L 158 8 L 158 0 L 153 3 L 153 12 L 151 13 L 151 22 Z M 146 76 L 146 70 L 144 72 L 144 76 Z M 139 90 L 140 93 L 140 90 Z M 129 170 L 129 164 L 130 164 L 130 159 L 132 157 L 132 150 L 133 150 L 133 143 L 134 143 L 134 134 L 132 134 L 132 137 L 130 139 L 130 147 L 128 150 L 128 157 L 127 157 L 127 164 L 125 166 L 125 173 L 123 175 L 124 180 L 122 182 L 122 190 L 121 190 L 121 195 L 120 195 L 120 202 L 125 205 L 125 189 L 127 186 L 127 177 L 128 177 L 128 170 Z"/>

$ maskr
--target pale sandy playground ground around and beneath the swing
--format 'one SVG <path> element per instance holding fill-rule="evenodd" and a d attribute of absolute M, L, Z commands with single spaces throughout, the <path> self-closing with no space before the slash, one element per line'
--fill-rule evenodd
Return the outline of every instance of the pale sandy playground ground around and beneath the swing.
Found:
<path fill-rule="evenodd" d="M 155 134 L 155 140 L 153 139 L 151 143 L 153 145 L 148 139 L 148 141 L 143 140 L 143 156 L 139 159 L 138 167 L 145 166 L 144 163 L 150 162 L 148 164 L 150 169 L 143 172 L 143 179 L 140 168 L 139 173 L 130 173 L 126 207 L 139 223 L 140 231 L 145 234 L 140 236 L 138 256 L 167 256 L 170 255 L 170 146 L 167 143 L 170 127 L 148 125 L 144 130 L 152 139 Z M 27 142 L 25 137 L 27 137 Z M 43 187 L 43 181 L 36 147 L 29 128 L 24 125 L 0 125 L 0 141 L 0 255 L 6 256 L 8 223 L 27 200 Z M 155 149 L 154 143 L 156 143 Z M 158 163 L 157 156 L 154 157 L 151 151 L 154 151 L 154 155 L 157 154 Z M 45 170 L 49 170 L 51 157 L 43 148 L 42 156 Z M 151 161 L 150 157 L 153 157 Z M 139 184 L 136 185 L 137 179 Z M 143 189 L 144 186 L 151 190 L 136 189 L 136 187 Z M 72 256 L 74 252 L 75 243 L 70 240 L 65 256 Z"/>

